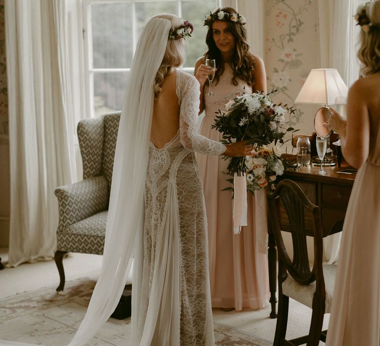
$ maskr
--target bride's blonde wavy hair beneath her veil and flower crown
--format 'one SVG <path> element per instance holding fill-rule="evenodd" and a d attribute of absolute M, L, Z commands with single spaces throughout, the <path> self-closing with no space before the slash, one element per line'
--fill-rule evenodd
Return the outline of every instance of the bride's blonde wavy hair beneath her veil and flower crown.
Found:
<path fill-rule="evenodd" d="M 157 14 L 153 18 L 163 18 L 170 20 L 172 28 L 179 28 L 184 20 L 174 14 Z M 157 71 L 156 78 L 154 80 L 154 97 L 157 97 L 162 91 L 161 85 L 164 82 L 165 77 L 170 74 L 175 67 L 180 67 L 186 59 L 185 54 L 186 42 L 184 39 L 169 40 L 166 44 L 166 50 L 161 62 L 161 66 Z"/>

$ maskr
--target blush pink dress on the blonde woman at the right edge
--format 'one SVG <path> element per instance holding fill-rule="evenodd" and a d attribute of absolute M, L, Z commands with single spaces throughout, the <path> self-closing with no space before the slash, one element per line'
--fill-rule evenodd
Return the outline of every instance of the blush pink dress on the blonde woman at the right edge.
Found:
<path fill-rule="evenodd" d="M 327 346 L 380 345 L 380 117 L 344 218 Z"/>

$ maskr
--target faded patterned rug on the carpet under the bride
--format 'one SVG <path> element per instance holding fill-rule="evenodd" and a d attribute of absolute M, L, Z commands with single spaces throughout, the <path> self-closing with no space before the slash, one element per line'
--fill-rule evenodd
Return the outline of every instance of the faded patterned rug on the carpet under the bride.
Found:
<path fill-rule="evenodd" d="M 79 279 L 66 283 L 64 296 L 54 287 L 27 292 L 0 300 L 0 340 L 64 346 L 82 321 L 95 282 Z M 88 346 L 130 345 L 130 319 L 110 318 Z M 214 324 L 216 345 L 270 346 L 271 343 Z"/>

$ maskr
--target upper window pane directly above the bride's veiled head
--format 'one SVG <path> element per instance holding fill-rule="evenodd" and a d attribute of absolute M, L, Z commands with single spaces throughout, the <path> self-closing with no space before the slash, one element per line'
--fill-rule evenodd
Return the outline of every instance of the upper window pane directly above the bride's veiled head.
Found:
<path fill-rule="evenodd" d="M 178 13 L 175 1 L 136 2 L 137 36 L 140 37 L 142 28 L 150 17 L 162 13 Z"/>

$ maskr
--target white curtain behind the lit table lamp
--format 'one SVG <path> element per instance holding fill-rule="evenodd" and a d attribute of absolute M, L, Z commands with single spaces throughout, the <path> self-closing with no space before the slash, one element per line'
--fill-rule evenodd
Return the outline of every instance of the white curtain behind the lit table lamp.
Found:
<path fill-rule="evenodd" d="M 336 68 L 350 87 L 359 77 L 354 15 L 361 0 L 319 0 L 321 67 Z M 341 232 L 324 239 L 324 261 L 338 260 Z"/>

